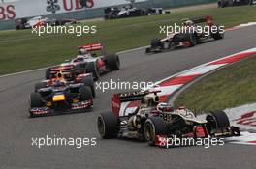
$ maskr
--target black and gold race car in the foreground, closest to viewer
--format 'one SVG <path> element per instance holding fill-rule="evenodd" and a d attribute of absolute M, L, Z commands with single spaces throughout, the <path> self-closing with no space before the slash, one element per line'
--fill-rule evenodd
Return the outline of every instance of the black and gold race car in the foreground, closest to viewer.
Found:
<path fill-rule="evenodd" d="M 210 112 L 199 119 L 185 108 L 174 109 L 159 102 L 155 92 L 131 92 L 115 94 L 112 98 L 112 112 L 98 116 L 98 131 L 104 139 L 128 137 L 145 140 L 150 145 L 159 144 L 166 138 L 207 138 L 239 136 L 239 127 L 231 127 L 223 111 Z M 122 102 L 141 101 L 128 116 L 119 116 Z"/>

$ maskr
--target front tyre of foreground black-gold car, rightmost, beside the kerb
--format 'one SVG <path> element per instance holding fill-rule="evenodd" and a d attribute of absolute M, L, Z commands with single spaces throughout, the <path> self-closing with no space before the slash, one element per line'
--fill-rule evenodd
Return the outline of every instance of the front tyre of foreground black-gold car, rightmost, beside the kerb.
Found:
<path fill-rule="evenodd" d="M 207 127 L 209 132 L 211 130 L 218 130 L 230 127 L 229 118 L 224 111 L 211 111 L 207 115 L 206 120 L 208 121 Z"/>

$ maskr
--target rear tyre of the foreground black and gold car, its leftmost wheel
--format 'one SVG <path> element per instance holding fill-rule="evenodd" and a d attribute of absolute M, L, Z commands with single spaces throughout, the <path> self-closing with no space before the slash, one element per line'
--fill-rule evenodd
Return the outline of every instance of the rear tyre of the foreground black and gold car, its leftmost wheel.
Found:
<path fill-rule="evenodd" d="M 115 138 L 119 132 L 119 120 L 112 112 L 101 113 L 97 119 L 97 127 L 101 138 Z"/>

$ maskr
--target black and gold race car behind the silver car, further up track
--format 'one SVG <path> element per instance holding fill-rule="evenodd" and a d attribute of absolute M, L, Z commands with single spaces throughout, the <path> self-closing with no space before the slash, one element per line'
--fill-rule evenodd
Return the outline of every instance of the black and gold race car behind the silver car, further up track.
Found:
<path fill-rule="evenodd" d="M 182 31 L 172 33 L 163 39 L 153 39 L 150 47 L 146 48 L 145 52 L 158 53 L 181 46 L 192 47 L 208 39 L 221 40 L 224 38 L 224 30 L 221 26 L 215 25 L 213 18 L 209 15 L 183 19 L 182 21 Z M 204 28 L 204 31 L 202 28 Z"/>

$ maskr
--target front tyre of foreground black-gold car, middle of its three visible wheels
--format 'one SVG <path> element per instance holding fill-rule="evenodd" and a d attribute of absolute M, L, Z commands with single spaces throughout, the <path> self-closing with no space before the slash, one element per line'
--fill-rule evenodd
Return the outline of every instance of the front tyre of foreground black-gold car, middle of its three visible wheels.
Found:
<path fill-rule="evenodd" d="M 155 145 L 156 135 L 166 135 L 167 127 L 160 117 L 150 117 L 144 123 L 144 139 L 150 146 Z"/>

